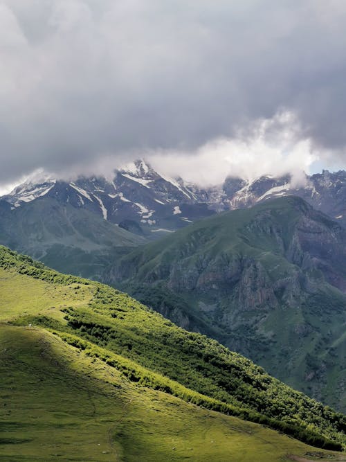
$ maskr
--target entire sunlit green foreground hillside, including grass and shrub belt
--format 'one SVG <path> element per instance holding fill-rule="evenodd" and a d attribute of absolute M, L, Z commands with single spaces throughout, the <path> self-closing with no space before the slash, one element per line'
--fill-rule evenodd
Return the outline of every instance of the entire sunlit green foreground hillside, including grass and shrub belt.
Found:
<path fill-rule="evenodd" d="M 0 287 L 3 460 L 336 457 L 273 429 L 325 449 L 345 443 L 341 414 L 127 294 L 5 247 Z"/>

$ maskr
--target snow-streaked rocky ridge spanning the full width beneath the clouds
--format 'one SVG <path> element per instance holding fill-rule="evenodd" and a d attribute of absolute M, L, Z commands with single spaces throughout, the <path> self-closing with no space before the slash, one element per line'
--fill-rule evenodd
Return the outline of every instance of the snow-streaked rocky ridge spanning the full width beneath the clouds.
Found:
<path fill-rule="evenodd" d="M 17 186 L 0 202 L 12 209 L 43 197 L 71 204 L 118 224 L 149 240 L 165 236 L 203 217 L 246 208 L 273 197 L 296 195 L 333 220 L 346 224 L 346 172 L 305 175 L 299 183 L 291 177 L 262 176 L 247 181 L 227 177 L 223 184 L 201 188 L 182 178 L 168 178 L 139 159 L 114 170 L 113 179 L 78 177 L 58 181 L 42 172 Z"/>

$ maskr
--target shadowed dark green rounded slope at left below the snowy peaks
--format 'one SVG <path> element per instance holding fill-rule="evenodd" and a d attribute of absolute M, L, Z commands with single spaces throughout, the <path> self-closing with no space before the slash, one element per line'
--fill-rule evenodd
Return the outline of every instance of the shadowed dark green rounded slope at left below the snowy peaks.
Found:
<path fill-rule="evenodd" d="M 84 208 L 41 197 L 14 210 L 0 207 L 0 242 L 55 269 L 95 278 L 108 258 L 145 239 Z"/>

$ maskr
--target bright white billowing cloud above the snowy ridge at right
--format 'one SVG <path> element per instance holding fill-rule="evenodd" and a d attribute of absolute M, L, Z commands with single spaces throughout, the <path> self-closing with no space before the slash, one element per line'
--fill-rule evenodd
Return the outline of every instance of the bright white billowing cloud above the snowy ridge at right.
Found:
<path fill-rule="evenodd" d="M 290 112 L 257 121 L 251 135 L 216 139 L 194 152 L 164 152 L 148 157 L 166 175 L 181 175 L 193 183 L 220 184 L 228 175 L 252 180 L 261 175 L 291 173 L 302 181 L 313 163 L 326 153 L 313 148 L 311 139 L 300 139 L 300 127 Z"/>

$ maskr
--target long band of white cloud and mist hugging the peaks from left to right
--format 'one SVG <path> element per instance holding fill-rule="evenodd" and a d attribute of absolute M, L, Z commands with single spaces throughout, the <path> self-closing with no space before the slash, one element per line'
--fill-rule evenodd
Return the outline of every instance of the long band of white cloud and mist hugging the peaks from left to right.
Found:
<path fill-rule="evenodd" d="M 237 137 L 219 138 L 193 151 L 133 151 L 120 153 L 118 157 L 103 154 L 87 163 L 74 163 L 56 172 L 51 177 L 73 180 L 79 175 L 104 175 L 113 179 L 113 170 L 123 166 L 128 159 L 145 158 L 151 165 L 169 177 L 182 177 L 199 186 L 221 184 L 227 176 L 241 177 L 251 181 L 262 175 L 281 176 L 290 173 L 293 184 L 304 182 L 304 172 L 311 174 L 322 168 L 343 168 L 334 157 L 334 152 L 321 150 L 311 139 L 302 136 L 298 118 L 291 112 L 278 112 L 273 118 L 260 119 L 239 130 Z M 15 183 L 4 184 L 0 195 L 22 181 L 38 181 L 47 175 L 37 169 L 24 175 Z"/>

